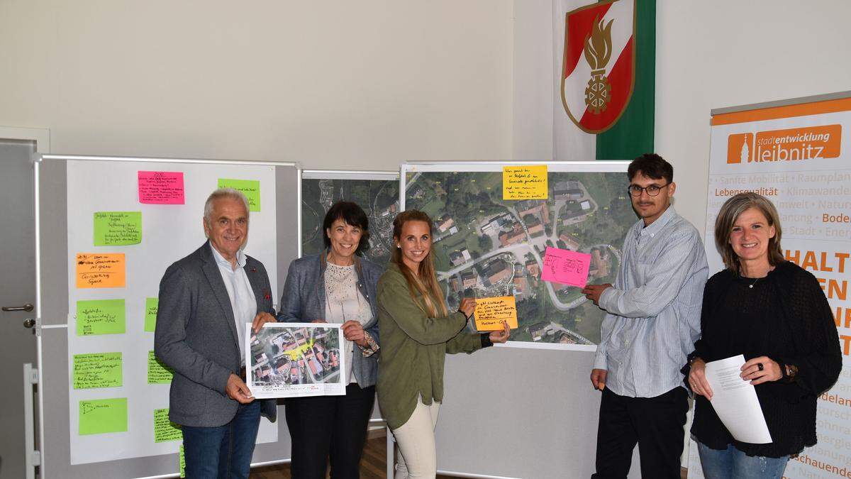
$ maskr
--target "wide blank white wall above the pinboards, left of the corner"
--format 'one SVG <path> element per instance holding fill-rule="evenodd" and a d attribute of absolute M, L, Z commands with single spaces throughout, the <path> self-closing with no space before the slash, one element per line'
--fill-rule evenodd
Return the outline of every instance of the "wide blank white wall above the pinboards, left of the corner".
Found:
<path fill-rule="evenodd" d="M 511 30 L 509 0 L 0 0 L 0 125 L 53 153 L 508 159 Z"/>

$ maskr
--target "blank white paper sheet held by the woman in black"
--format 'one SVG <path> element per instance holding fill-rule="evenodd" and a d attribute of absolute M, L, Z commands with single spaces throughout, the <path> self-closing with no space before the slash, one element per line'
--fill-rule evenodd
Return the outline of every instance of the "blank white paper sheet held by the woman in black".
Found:
<path fill-rule="evenodd" d="M 745 356 L 738 355 L 706 363 L 706 380 L 712 388 L 712 407 L 737 441 L 751 444 L 771 442 L 757 390 L 740 378 Z"/>

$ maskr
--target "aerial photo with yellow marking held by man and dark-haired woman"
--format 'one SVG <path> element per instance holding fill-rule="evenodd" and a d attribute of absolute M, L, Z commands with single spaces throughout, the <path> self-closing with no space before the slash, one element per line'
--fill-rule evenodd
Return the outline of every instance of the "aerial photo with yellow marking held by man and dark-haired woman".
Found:
<path fill-rule="evenodd" d="M 251 375 L 259 386 L 340 382 L 340 330 L 265 327 L 251 338 Z"/>

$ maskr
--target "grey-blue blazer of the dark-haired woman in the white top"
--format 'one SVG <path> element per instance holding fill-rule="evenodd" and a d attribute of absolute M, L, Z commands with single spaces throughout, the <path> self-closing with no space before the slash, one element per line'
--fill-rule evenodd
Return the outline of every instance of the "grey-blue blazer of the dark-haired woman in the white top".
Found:
<path fill-rule="evenodd" d="M 325 255 L 303 257 L 289 263 L 287 282 L 283 286 L 281 310 L 277 315 L 278 321 L 311 322 L 325 318 Z M 357 272 L 357 289 L 369 302 L 373 319 L 363 325 L 376 343 L 378 338 L 378 305 L 375 303 L 375 287 L 384 268 L 362 257 L 355 257 Z M 373 386 L 378 377 L 378 355 L 368 358 L 354 355 L 352 371 L 355 373 L 357 385 L 362 388 Z"/>

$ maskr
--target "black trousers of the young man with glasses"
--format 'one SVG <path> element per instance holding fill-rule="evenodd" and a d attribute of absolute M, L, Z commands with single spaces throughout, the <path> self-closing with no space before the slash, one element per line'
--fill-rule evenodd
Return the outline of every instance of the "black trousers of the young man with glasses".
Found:
<path fill-rule="evenodd" d="M 603 390 L 597 427 L 597 473 L 625 478 L 638 443 L 642 477 L 679 479 L 688 393 L 681 387 L 656 397 L 626 397 Z"/>

